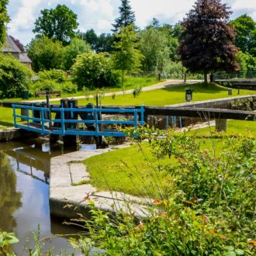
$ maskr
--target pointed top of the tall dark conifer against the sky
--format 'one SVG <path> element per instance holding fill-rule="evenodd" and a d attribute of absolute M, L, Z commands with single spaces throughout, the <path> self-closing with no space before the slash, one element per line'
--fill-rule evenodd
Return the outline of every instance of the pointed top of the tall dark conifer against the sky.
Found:
<path fill-rule="evenodd" d="M 121 0 L 121 5 L 119 6 L 119 17 L 115 19 L 115 23 L 112 24 L 113 33 L 119 33 L 121 28 L 133 24 L 133 29 L 135 29 L 135 14 L 130 6 L 129 0 Z"/>

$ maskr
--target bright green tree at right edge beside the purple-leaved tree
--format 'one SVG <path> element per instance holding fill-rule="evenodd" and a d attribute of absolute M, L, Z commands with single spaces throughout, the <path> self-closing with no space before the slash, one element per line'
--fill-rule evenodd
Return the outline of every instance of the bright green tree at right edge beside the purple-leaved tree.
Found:
<path fill-rule="evenodd" d="M 256 57 L 256 22 L 247 14 L 230 22 L 237 33 L 235 44 L 243 53 Z"/>

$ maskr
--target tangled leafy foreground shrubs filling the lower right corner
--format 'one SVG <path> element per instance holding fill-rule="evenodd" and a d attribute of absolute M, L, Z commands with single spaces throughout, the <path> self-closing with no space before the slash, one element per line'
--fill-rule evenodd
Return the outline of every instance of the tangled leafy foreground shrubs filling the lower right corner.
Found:
<path fill-rule="evenodd" d="M 128 132 L 140 133 L 156 157 L 170 160 L 147 166 L 171 178 L 168 184 L 152 181 L 158 198 L 144 208 L 147 216 L 140 222 L 123 212 L 110 220 L 109 213 L 95 209 L 92 202 L 92 220 L 85 220 L 90 237 L 73 240 L 75 247 L 86 253 L 92 245 L 98 246 L 105 255 L 256 253 L 254 138 L 220 135 L 223 150 L 216 154 L 216 150 L 202 150 L 203 140 L 185 133 L 147 128 Z"/>

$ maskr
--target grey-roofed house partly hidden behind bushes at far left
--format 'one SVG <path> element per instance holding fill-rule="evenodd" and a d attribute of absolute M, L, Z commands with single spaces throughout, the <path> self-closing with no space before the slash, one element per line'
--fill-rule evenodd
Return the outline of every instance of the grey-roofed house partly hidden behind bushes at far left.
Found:
<path fill-rule="evenodd" d="M 6 42 L 1 47 L 0 51 L 2 51 L 4 54 L 12 54 L 13 57 L 16 57 L 16 59 L 31 69 L 32 61 L 26 55 L 25 51 L 22 52 L 22 50 L 19 49 L 15 41 L 12 40 L 11 36 L 6 36 Z"/>

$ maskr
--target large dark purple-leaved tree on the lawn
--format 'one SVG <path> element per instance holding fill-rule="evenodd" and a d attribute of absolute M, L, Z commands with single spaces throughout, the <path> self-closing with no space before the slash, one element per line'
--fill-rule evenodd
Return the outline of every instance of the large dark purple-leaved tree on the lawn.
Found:
<path fill-rule="evenodd" d="M 234 28 L 229 25 L 229 8 L 220 0 L 198 0 L 182 21 L 178 54 L 192 72 L 237 71 Z"/>

